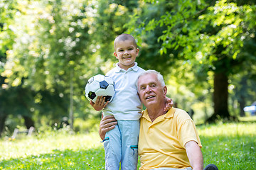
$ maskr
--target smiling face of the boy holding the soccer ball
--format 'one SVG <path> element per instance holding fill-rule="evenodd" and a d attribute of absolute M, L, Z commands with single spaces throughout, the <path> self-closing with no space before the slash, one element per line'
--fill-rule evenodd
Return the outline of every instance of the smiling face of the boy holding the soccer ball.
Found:
<path fill-rule="evenodd" d="M 114 56 L 119 61 L 119 67 L 129 69 L 134 66 L 136 57 L 139 54 L 139 48 L 136 48 L 132 40 L 124 40 L 116 43 Z"/>

